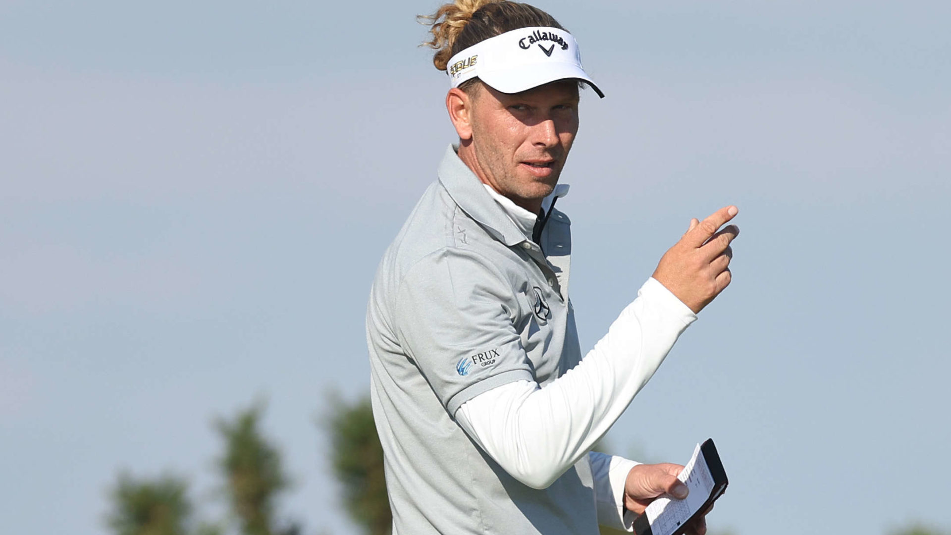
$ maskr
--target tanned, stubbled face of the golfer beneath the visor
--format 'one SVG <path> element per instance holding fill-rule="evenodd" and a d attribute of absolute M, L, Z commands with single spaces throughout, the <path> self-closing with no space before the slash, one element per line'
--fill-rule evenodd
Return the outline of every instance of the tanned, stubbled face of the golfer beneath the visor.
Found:
<path fill-rule="evenodd" d="M 577 83 L 564 80 L 514 94 L 485 84 L 473 94 L 453 90 L 468 97 L 459 117 L 452 91 L 447 97 L 459 157 L 482 182 L 537 212 L 558 182 L 578 131 Z"/>

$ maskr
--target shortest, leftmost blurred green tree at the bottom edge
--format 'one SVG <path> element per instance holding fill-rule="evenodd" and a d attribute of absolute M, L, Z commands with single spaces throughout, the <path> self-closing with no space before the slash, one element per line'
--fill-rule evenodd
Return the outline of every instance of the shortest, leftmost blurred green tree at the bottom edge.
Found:
<path fill-rule="evenodd" d="M 107 525 L 116 535 L 185 535 L 192 511 L 187 488 L 173 475 L 149 480 L 122 472 L 110 492 Z"/>

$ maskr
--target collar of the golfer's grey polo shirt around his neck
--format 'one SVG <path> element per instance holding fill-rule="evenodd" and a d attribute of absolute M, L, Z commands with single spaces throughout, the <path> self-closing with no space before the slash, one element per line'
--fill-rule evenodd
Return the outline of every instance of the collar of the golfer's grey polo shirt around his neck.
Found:
<path fill-rule="evenodd" d="M 483 184 L 476 173 L 456 153 L 451 144 L 439 163 L 439 182 L 449 195 L 470 217 L 489 228 L 495 237 L 507 246 L 514 246 L 532 237 L 537 214 L 516 205 L 512 199 Z M 558 184 L 542 200 L 542 209 L 548 210 L 557 197 L 568 194 L 569 185 Z"/>

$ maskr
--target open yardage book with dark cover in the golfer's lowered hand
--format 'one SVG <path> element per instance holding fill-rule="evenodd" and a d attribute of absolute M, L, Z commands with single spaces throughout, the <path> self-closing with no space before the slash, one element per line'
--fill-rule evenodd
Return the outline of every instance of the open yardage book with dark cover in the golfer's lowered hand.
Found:
<path fill-rule="evenodd" d="M 687 498 L 654 500 L 644 514 L 634 519 L 634 533 L 682 535 L 687 525 L 723 494 L 729 482 L 713 439 L 707 439 L 693 449 L 693 457 L 677 479 L 689 488 Z"/>

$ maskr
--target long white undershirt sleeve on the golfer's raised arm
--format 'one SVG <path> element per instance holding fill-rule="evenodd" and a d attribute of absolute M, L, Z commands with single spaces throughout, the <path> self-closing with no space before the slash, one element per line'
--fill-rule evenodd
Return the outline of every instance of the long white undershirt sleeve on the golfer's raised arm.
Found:
<path fill-rule="evenodd" d="M 456 422 L 518 481 L 552 485 L 608 432 L 694 320 L 651 278 L 577 366 L 545 387 L 526 380 L 484 391 L 461 405 Z"/>

